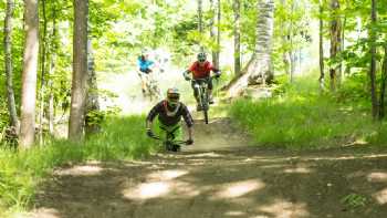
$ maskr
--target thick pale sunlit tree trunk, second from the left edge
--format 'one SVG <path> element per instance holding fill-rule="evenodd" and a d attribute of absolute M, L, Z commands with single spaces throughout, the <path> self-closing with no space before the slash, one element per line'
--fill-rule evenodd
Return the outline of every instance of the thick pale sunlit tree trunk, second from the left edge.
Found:
<path fill-rule="evenodd" d="M 35 133 L 36 73 L 39 55 L 38 0 L 24 0 L 25 43 L 23 54 L 20 146 L 30 148 Z"/>

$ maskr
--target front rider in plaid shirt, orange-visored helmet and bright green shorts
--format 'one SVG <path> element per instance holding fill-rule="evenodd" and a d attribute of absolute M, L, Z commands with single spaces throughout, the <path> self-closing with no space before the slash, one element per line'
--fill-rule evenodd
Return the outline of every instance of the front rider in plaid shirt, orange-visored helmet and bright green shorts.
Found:
<path fill-rule="evenodd" d="M 146 118 L 146 132 L 149 137 L 154 137 L 155 134 L 151 131 L 153 121 L 158 116 L 159 133 L 160 136 L 166 135 L 166 133 L 172 134 L 174 139 L 180 137 L 181 126 L 180 121 L 184 117 L 188 127 L 187 145 L 194 144 L 192 139 L 192 126 L 194 120 L 189 113 L 187 106 L 180 101 L 180 93 L 177 89 L 168 89 L 167 98 L 156 104 L 149 112 Z"/>

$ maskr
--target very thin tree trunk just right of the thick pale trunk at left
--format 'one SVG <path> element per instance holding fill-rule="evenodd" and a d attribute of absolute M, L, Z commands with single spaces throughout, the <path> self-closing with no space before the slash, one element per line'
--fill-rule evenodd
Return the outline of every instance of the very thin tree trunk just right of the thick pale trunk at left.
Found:
<path fill-rule="evenodd" d="M 39 108 L 39 144 L 43 145 L 43 128 L 44 128 L 44 93 L 45 93 L 45 60 L 46 60 L 46 33 L 48 19 L 45 15 L 45 0 L 42 0 L 42 15 L 43 15 L 43 35 L 41 43 L 41 76 L 40 76 L 40 108 Z"/>

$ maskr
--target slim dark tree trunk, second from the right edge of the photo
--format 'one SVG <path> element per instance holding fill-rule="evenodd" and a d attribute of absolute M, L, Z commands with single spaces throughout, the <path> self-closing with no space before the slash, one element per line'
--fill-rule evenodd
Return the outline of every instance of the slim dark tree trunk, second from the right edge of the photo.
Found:
<path fill-rule="evenodd" d="M 372 1 L 372 24 L 375 25 L 377 22 L 376 14 L 376 0 Z M 370 69 L 369 69 L 369 81 L 370 81 L 370 98 L 373 104 L 373 117 L 376 118 L 378 114 L 378 101 L 376 95 L 376 32 L 374 28 L 369 31 L 370 38 Z"/>

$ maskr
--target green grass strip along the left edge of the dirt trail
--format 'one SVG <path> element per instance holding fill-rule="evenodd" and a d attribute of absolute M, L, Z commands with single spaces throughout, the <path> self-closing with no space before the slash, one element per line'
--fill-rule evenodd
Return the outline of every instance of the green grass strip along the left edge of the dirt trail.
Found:
<path fill-rule="evenodd" d="M 133 159 L 155 150 L 144 134 L 143 116 L 109 118 L 100 134 L 82 144 L 53 141 L 31 150 L 0 150 L 0 216 L 25 209 L 36 186 L 55 167 L 87 160 Z M 2 217 L 2 216 L 1 216 Z"/>

